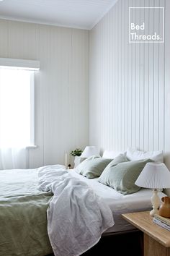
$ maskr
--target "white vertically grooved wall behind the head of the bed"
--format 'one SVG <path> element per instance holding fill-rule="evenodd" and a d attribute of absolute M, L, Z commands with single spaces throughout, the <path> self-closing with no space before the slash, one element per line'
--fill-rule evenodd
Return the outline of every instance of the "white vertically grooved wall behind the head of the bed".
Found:
<path fill-rule="evenodd" d="M 164 150 L 170 168 L 169 2 L 119 0 L 90 31 L 89 113 L 91 145 Z M 165 43 L 129 43 L 129 7 L 165 7 Z M 161 27 L 158 12 L 145 14 Z"/>

